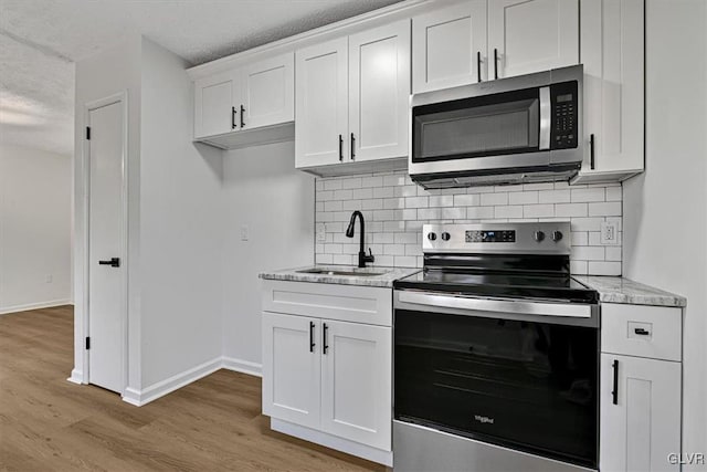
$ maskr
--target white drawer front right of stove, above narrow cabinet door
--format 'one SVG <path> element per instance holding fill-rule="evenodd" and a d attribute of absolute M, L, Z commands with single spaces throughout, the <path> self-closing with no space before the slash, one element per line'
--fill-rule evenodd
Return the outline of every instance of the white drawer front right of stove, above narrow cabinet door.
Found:
<path fill-rule="evenodd" d="M 601 350 L 654 359 L 682 359 L 683 311 L 664 306 L 601 305 Z"/>

